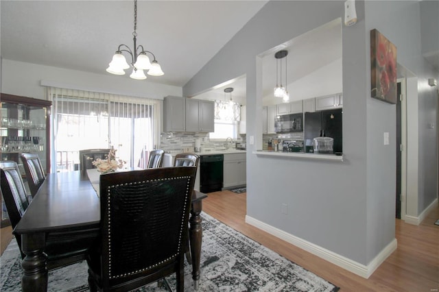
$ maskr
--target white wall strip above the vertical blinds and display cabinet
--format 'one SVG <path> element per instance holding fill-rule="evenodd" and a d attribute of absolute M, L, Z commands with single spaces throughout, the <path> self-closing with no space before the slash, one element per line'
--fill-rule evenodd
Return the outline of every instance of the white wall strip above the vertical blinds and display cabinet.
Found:
<path fill-rule="evenodd" d="M 132 80 L 128 76 L 95 74 L 5 59 L 1 61 L 1 92 L 11 95 L 46 99 L 42 81 L 62 88 L 153 99 L 182 95 L 181 87 Z"/>

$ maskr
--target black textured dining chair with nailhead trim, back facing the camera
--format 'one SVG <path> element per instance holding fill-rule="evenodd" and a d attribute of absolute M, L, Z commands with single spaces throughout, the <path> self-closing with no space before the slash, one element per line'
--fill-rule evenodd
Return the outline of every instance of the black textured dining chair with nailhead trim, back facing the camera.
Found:
<path fill-rule="evenodd" d="M 163 167 L 99 177 L 100 236 L 88 263 L 90 291 L 131 291 L 176 273 L 184 257 L 195 167 Z"/>

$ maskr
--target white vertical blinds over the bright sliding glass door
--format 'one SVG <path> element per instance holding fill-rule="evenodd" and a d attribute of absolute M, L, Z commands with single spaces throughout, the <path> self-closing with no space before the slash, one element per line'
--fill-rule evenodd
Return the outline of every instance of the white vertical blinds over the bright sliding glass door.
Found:
<path fill-rule="evenodd" d="M 80 149 L 117 149 L 127 167 L 156 148 L 161 101 L 66 88 L 47 88 L 52 101 L 51 172 L 69 171 Z"/>

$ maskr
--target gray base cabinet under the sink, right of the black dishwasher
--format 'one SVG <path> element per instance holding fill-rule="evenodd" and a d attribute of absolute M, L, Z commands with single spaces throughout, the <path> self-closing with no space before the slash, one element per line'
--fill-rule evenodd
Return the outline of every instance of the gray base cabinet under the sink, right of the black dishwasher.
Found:
<path fill-rule="evenodd" d="M 223 187 L 246 185 L 246 167 L 246 153 L 224 154 Z"/>

